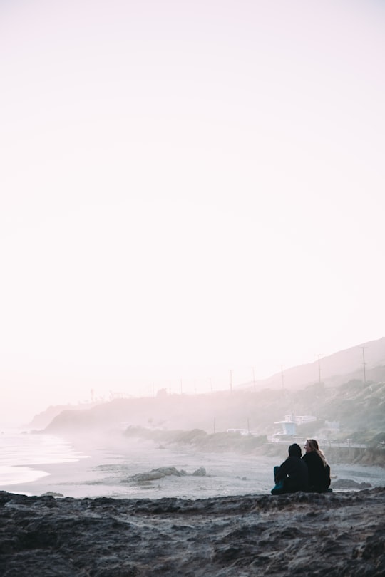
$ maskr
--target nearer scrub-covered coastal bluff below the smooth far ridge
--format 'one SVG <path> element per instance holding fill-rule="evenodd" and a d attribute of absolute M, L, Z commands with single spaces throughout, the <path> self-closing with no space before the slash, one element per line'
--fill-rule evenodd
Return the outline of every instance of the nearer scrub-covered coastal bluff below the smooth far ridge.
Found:
<path fill-rule="evenodd" d="M 116 399 L 89 410 L 66 410 L 47 432 L 150 427 L 158 430 L 201 429 L 220 432 L 231 428 L 272 435 L 274 422 L 284 415 L 314 415 L 317 421 L 299 427 L 306 436 L 353 438 L 370 442 L 385 432 L 385 383 L 351 380 L 343 385 L 309 385 L 301 390 L 267 389 L 207 395 L 161 395 Z M 328 422 L 339 422 L 330 430 Z"/>

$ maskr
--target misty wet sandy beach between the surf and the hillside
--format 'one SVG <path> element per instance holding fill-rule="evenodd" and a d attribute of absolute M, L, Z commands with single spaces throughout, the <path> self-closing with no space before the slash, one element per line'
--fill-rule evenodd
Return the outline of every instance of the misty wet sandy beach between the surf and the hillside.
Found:
<path fill-rule="evenodd" d="M 78 460 L 29 464 L 29 467 L 42 471 L 44 476 L 31 482 L 5 484 L 0 488 L 28 496 L 52 493 L 79 499 L 201 499 L 268 494 L 272 488 L 274 464 L 282 461 L 282 456 L 201 452 L 180 446 L 160 448 L 147 440 L 123 441 L 121 435 L 111 435 L 94 442 L 89 438 L 77 438 L 72 442 L 73 449 L 80 457 Z M 138 475 L 160 467 L 173 467 L 183 474 L 138 481 Z M 201 468 L 205 470 L 205 475 L 196 476 L 194 473 Z M 357 486 L 365 483 L 368 488 L 384 487 L 385 469 L 334 463 L 332 484 L 341 480 L 349 480 Z"/>

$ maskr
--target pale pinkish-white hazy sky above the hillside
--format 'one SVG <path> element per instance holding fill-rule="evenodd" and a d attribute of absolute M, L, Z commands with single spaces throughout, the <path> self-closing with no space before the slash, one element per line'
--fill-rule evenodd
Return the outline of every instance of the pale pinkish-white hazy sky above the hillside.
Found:
<path fill-rule="evenodd" d="M 373 0 L 0 1 L 0 420 L 385 335 L 384 30 Z"/>

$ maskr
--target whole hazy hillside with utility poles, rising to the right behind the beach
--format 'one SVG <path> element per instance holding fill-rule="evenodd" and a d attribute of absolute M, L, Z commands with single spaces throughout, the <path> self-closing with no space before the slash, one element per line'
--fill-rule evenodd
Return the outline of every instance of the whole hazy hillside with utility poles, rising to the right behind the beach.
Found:
<path fill-rule="evenodd" d="M 46 415 L 36 417 L 34 424 L 43 428 L 48 423 L 47 432 L 147 427 L 199 429 L 210 435 L 244 429 L 269 436 L 277 430 L 274 422 L 285 415 L 312 415 L 317 420 L 298 427 L 298 435 L 327 440 L 349 438 L 376 445 L 385 440 L 384 351 L 385 338 L 381 338 L 322 358 L 322 382 L 314 379 L 314 375 L 319 378 L 317 360 L 285 371 L 283 388 L 279 374 L 260 381 L 257 387 L 246 383 L 232 393 L 168 395 L 163 390 L 156 397 L 120 398 L 86 410 L 76 407 L 56 412 L 60 407 L 50 407 Z"/>

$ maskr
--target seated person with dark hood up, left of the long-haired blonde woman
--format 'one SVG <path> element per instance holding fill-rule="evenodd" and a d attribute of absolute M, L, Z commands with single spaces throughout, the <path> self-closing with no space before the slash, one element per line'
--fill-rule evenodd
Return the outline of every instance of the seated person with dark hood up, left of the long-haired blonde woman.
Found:
<path fill-rule="evenodd" d="M 289 457 L 279 467 L 274 467 L 275 487 L 273 495 L 306 491 L 308 485 L 307 465 L 301 459 L 301 447 L 293 443 L 289 447 Z"/>

